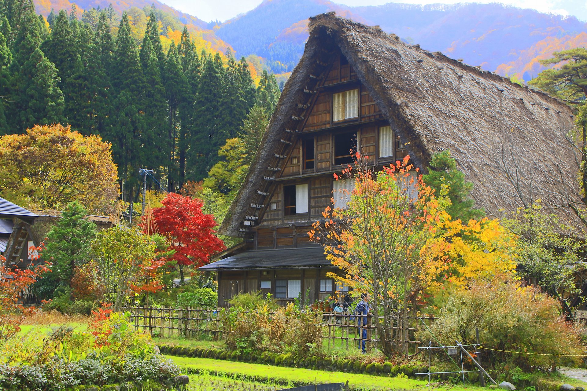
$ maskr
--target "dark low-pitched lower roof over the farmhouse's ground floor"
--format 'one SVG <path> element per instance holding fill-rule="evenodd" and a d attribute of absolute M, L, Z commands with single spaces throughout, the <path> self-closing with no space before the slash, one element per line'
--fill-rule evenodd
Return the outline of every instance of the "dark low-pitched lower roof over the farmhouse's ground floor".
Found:
<path fill-rule="evenodd" d="M 251 250 L 201 266 L 205 270 L 330 266 L 322 247 Z"/>

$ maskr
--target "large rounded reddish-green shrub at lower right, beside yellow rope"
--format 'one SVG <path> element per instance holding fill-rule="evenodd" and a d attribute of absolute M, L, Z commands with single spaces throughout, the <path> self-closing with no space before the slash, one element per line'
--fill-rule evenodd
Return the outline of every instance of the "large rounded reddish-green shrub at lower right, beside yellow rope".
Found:
<path fill-rule="evenodd" d="M 441 344 L 475 341 L 479 329 L 483 346 L 499 351 L 487 355 L 484 364 L 494 368 L 508 365 L 522 370 L 549 370 L 563 363 L 560 357 L 525 355 L 503 351 L 546 354 L 582 353 L 579 331 L 565 322 L 558 301 L 541 293 L 538 288 L 495 278 L 476 281 L 466 290 L 454 292 L 431 326 Z M 420 333 L 425 336 L 424 333 Z"/>

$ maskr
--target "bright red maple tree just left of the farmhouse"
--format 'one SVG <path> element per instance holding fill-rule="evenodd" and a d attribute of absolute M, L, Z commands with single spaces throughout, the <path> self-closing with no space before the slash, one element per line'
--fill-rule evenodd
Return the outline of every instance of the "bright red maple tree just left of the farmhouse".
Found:
<path fill-rule="evenodd" d="M 153 209 L 153 215 L 159 232 L 171 242 L 168 250 L 176 251 L 168 260 L 177 262 L 183 283 L 184 266 L 207 264 L 211 254 L 225 246 L 214 235 L 216 220 L 202 212 L 204 203 L 200 199 L 169 193 L 161 203 L 163 206 Z"/>

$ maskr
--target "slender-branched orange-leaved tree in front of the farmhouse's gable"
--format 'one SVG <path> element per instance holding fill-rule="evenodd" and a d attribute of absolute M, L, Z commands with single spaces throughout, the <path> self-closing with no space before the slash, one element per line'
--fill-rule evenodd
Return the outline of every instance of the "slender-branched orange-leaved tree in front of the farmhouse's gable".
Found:
<path fill-rule="evenodd" d="M 355 184 L 346 195 L 348 208 L 326 208 L 325 220 L 314 223 L 309 234 L 343 270 L 342 277 L 330 277 L 372 298 L 383 352 L 404 351 L 410 315 L 424 290 L 448 267 L 444 258 L 420 255 L 436 233 L 440 205 L 409 157 L 375 176 L 367 158 L 357 154 L 355 166 L 343 176 Z"/>

